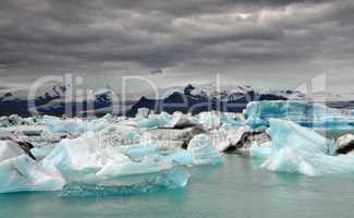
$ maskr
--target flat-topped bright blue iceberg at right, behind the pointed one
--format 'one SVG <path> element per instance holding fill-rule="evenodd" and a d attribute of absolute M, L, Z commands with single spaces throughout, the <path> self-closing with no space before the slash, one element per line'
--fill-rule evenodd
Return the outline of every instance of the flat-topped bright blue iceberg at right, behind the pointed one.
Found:
<path fill-rule="evenodd" d="M 247 105 L 244 116 L 246 123 L 253 129 L 269 126 L 270 118 L 290 120 L 303 126 L 326 131 L 354 129 L 354 117 L 350 111 L 305 101 L 253 101 Z"/>

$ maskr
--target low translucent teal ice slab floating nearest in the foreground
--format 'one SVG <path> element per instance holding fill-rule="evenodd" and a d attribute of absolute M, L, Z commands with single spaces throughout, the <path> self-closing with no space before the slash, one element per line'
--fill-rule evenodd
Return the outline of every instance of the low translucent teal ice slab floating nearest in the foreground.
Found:
<path fill-rule="evenodd" d="M 182 189 L 187 185 L 190 173 L 180 167 L 174 167 L 158 174 L 154 179 L 132 185 L 96 185 L 85 183 L 69 183 L 64 186 L 61 197 L 103 197 L 111 195 L 136 195 L 155 193 L 164 190 Z"/>

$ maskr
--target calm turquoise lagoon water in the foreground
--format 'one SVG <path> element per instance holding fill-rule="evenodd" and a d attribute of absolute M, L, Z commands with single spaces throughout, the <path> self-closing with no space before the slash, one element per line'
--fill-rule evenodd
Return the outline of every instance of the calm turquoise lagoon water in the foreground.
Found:
<path fill-rule="evenodd" d="M 0 217 L 353 217 L 354 175 L 279 174 L 239 156 L 224 160 L 222 166 L 190 169 L 190 184 L 178 191 L 102 198 L 1 194 Z"/>

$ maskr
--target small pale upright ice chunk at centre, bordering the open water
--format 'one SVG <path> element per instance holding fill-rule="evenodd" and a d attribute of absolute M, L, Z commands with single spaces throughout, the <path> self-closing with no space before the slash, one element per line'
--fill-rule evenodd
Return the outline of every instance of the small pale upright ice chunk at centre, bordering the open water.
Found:
<path fill-rule="evenodd" d="M 187 150 L 192 154 L 194 165 L 216 165 L 222 161 L 219 153 L 211 145 L 208 135 L 199 134 L 190 142 Z"/>

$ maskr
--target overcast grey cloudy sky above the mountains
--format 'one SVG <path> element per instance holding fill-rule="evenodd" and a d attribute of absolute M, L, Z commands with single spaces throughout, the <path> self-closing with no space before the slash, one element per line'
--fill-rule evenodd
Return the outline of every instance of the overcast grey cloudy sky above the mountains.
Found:
<path fill-rule="evenodd" d="M 74 74 L 354 92 L 353 0 L 1 0 L 0 86 Z M 151 74 L 151 71 L 162 73 Z M 135 86 L 139 88 L 139 86 Z"/>

